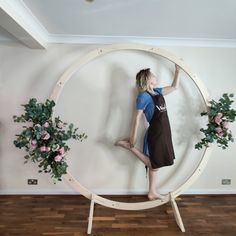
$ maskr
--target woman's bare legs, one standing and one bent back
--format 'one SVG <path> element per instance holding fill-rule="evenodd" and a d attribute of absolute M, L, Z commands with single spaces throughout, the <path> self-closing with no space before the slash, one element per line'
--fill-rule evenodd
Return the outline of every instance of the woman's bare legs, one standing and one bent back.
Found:
<path fill-rule="evenodd" d="M 115 145 L 128 149 L 148 167 L 148 179 L 149 179 L 148 199 L 149 200 L 163 199 L 164 197 L 156 192 L 156 173 L 158 169 L 152 169 L 149 157 L 144 155 L 139 149 L 135 147 L 130 148 L 130 143 L 127 140 L 118 141 L 115 143 Z"/>

